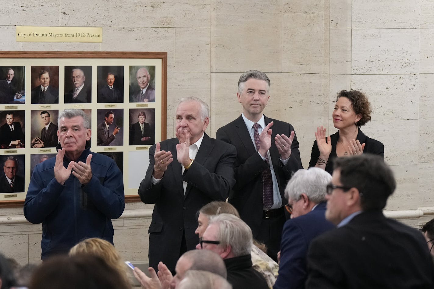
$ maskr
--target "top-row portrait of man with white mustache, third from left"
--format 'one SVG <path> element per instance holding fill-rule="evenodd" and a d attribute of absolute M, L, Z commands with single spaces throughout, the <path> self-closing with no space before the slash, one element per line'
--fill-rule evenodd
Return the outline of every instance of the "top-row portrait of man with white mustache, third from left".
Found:
<path fill-rule="evenodd" d="M 65 66 L 65 103 L 92 102 L 92 66 Z"/>

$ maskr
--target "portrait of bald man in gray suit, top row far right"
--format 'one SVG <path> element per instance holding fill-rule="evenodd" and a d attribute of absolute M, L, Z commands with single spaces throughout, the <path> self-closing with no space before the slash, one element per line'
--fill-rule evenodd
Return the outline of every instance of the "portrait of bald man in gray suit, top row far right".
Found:
<path fill-rule="evenodd" d="M 137 85 L 132 80 L 134 75 Z M 130 81 L 130 102 L 155 102 L 155 66 L 130 66 Z"/>

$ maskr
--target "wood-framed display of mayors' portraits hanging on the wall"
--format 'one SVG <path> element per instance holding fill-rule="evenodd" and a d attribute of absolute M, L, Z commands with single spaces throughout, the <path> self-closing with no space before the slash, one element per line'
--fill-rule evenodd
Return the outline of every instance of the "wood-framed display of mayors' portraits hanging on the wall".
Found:
<path fill-rule="evenodd" d="M 125 201 L 166 138 L 166 52 L 0 52 L 0 207 L 22 206 L 34 167 L 56 157 L 59 112 L 91 119 L 91 151 L 115 160 Z"/>

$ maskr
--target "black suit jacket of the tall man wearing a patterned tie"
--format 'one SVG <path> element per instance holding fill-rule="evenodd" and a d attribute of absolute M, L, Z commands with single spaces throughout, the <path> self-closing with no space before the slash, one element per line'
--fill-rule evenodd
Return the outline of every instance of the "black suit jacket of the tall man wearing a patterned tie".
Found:
<path fill-rule="evenodd" d="M 291 145 L 291 156 L 288 163 L 283 166 L 279 160 L 280 154 L 277 151 L 274 138 L 276 134 L 289 136 L 294 128 L 287 122 L 267 118 L 265 115 L 264 118 L 265 125 L 274 122 L 271 128 L 273 133 L 271 135 L 270 156 L 277 183 L 279 184 L 282 204 L 285 205 L 284 192 L 286 183 L 291 178 L 293 172 L 303 168 L 300 160 L 299 143 L 297 137 L 294 136 L 294 141 Z M 216 138 L 233 144 L 237 148 L 237 161 L 235 161 L 235 179 L 237 183 L 229 194 L 229 203 L 237 208 L 241 219 L 250 226 L 253 238 L 255 238 L 262 222 L 263 184 L 261 173 L 268 165 L 256 152 L 242 115 L 233 122 L 219 128 Z"/>

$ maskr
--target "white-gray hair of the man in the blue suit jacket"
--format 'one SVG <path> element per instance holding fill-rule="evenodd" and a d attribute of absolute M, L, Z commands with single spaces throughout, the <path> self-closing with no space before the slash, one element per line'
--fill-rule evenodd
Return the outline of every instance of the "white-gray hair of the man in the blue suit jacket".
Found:
<path fill-rule="evenodd" d="M 332 181 L 332 176 L 320 169 L 311 167 L 309 170 L 300 169 L 293 174 L 285 188 L 287 200 L 298 201 L 301 194 L 306 194 L 309 200 L 318 204 L 325 201 L 326 186 Z"/>

